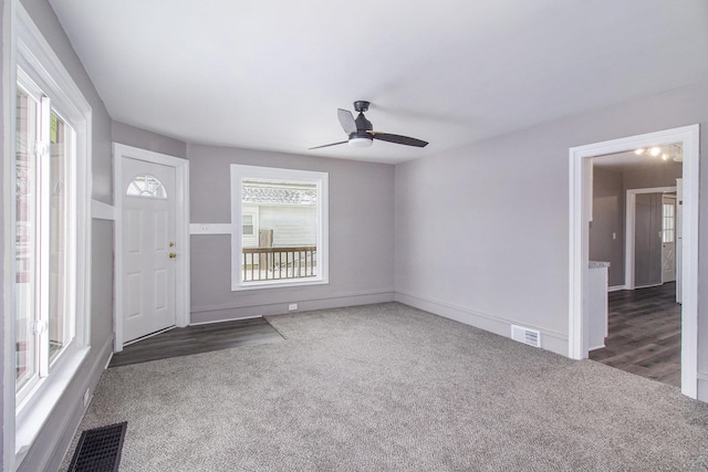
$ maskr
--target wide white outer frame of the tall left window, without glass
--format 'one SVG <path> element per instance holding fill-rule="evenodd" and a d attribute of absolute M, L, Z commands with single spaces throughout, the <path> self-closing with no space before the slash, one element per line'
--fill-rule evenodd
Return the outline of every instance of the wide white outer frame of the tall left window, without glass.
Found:
<path fill-rule="evenodd" d="M 8 2 L 6 2 L 7 4 Z M 49 375 L 40 378 L 34 385 L 32 391 L 28 392 L 22 401 L 17 401 L 14 395 L 14 369 L 8 369 L 8 365 L 14 366 L 15 353 L 14 348 L 14 301 L 10 300 L 6 304 L 7 318 L 11 319 L 10 334 L 6 337 L 9 340 L 4 350 L 4 369 L 3 378 L 3 411 L 4 421 L 4 444 L 3 465 L 9 465 L 14 470 L 30 447 L 34 442 L 37 436 L 41 431 L 46 419 L 62 398 L 64 391 L 72 381 L 75 373 L 83 364 L 90 350 L 90 307 L 91 307 L 91 124 L 92 111 L 88 102 L 84 98 L 80 88 L 73 82 L 71 75 L 63 66 L 52 48 L 41 34 L 40 30 L 32 22 L 29 13 L 19 2 L 10 2 L 9 35 L 10 46 L 4 50 L 9 53 L 9 61 L 3 63 L 7 69 L 6 84 L 8 87 L 7 107 L 9 114 L 6 114 L 6 132 L 10 132 L 12 139 L 9 143 L 9 156 L 14 156 L 14 126 L 17 120 L 15 97 L 17 97 L 17 71 L 21 67 L 24 73 L 42 90 L 53 104 L 53 107 L 61 112 L 62 118 L 65 119 L 76 134 L 75 140 L 75 162 L 73 164 L 73 175 L 75 176 L 74 189 L 74 218 L 70 221 L 73 229 L 71 239 L 73 239 L 76 252 L 72 279 L 75 281 L 75 290 L 72 295 L 75 297 L 75 334 L 74 339 L 66 346 L 62 355 L 52 364 Z M 8 23 L 3 24 L 7 27 Z M 3 54 L 3 57 L 6 55 Z M 9 126 L 8 126 L 9 125 Z M 14 158 L 6 159 L 3 176 L 3 200 L 6 202 L 14 201 Z M 13 204 L 6 204 L 6 228 L 4 235 L 9 237 L 9 260 L 14 260 L 14 208 Z M 9 209 L 9 211 L 8 211 Z M 7 218 L 10 217 L 10 218 Z M 8 221 L 11 223 L 8 224 Z M 7 264 L 3 268 L 4 293 L 12 292 L 12 281 L 14 280 L 13 264 Z M 10 290 L 8 291 L 8 286 Z M 8 327 L 6 323 L 6 328 Z M 8 375 L 8 370 L 12 370 L 12 376 Z M 8 380 L 10 380 L 8 382 Z M 13 396 L 10 397 L 10 391 Z M 8 401 L 10 400 L 10 401 Z M 12 401 L 14 400 L 14 401 Z"/>

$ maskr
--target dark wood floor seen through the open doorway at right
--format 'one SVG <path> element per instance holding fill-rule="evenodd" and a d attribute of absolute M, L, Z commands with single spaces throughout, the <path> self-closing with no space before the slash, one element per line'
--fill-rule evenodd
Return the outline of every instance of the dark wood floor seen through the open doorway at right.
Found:
<path fill-rule="evenodd" d="M 680 387 L 681 305 L 676 283 L 608 294 L 605 347 L 590 353 L 598 363 Z"/>

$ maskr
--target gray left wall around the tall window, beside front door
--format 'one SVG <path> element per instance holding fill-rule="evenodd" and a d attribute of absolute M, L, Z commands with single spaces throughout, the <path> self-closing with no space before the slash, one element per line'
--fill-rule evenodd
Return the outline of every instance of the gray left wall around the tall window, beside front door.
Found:
<path fill-rule="evenodd" d="M 92 195 L 96 200 L 112 203 L 111 118 L 46 0 L 22 0 L 22 4 L 92 107 Z M 93 390 L 112 350 L 113 224 L 111 221 L 94 220 L 92 231 L 92 348 L 34 441 L 20 468 L 23 471 L 59 468 L 83 413 L 80 399 L 86 388 Z"/>

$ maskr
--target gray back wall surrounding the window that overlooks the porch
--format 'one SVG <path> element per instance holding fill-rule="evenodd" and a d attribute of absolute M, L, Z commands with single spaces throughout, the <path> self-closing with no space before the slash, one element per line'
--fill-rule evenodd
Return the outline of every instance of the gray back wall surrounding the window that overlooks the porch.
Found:
<path fill-rule="evenodd" d="M 191 237 L 191 322 L 392 301 L 394 167 L 259 150 L 187 146 L 192 223 L 230 223 L 230 165 L 330 175 L 330 283 L 232 292 L 230 237 Z"/>

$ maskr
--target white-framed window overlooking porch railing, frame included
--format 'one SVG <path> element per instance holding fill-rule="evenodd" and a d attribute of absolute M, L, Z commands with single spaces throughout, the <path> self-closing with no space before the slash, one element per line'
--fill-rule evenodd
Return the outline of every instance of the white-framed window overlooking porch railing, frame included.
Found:
<path fill-rule="evenodd" d="M 231 166 L 231 289 L 327 283 L 327 174 Z"/>

